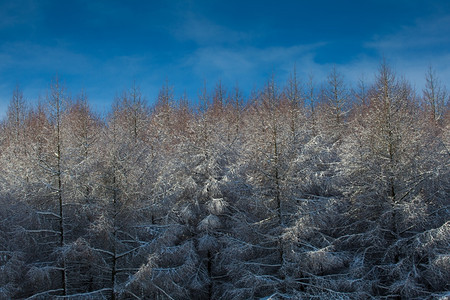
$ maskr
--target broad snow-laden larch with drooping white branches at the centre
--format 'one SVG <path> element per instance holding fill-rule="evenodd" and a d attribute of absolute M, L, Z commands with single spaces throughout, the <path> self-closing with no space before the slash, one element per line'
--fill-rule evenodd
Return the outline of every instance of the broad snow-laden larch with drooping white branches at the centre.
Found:
<path fill-rule="evenodd" d="M 159 232 L 156 242 L 160 248 L 133 282 L 152 297 L 217 295 L 217 254 L 227 206 L 221 182 L 228 159 L 226 126 L 214 121 L 223 117 L 224 111 L 219 104 L 214 109 L 206 89 L 200 98 L 204 106 L 188 120 L 187 132 L 191 134 L 183 134 L 171 144 L 171 151 L 165 155 L 171 159 L 161 168 L 155 183 L 155 197 L 166 212 L 152 226 Z"/>

